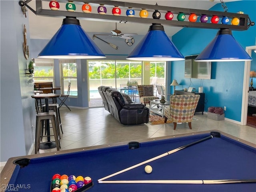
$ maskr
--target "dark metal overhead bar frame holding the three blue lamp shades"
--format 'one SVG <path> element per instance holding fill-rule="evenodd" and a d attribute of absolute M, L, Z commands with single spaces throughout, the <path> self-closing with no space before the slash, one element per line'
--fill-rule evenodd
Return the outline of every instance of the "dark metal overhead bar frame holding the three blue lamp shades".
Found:
<path fill-rule="evenodd" d="M 224 24 L 212 24 L 212 23 L 202 23 L 202 22 L 188 22 L 188 21 L 177 21 L 177 20 L 164 20 L 164 19 L 153 19 L 153 18 L 138 18 L 138 17 L 127 17 L 127 16 L 114 16 L 114 15 L 101 15 L 101 14 L 85 14 L 83 12 L 68 12 L 68 11 L 55 11 L 55 10 L 46 10 L 42 8 L 42 0 L 36 0 L 36 10 L 33 10 L 28 3 L 31 0 L 20 0 L 20 6 L 26 6 L 29 10 L 31 10 L 34 14 L 38 16 L 50 16 L 50 17 L 65 17 L 71 16 L 80 18 L 83 20 L 93 20 L 93 21 L 102 21 L 102 22 L 137 22 L 143 24 L 152 24 L 158 23 L 165 26 L 176 26 L 176 27 L 190 27 L 190 28 L 208 28 L 208 29 L 220 29 L 226 28 L 230 30 L 238 30 L 244 31 L 247 30 L 250 26 L 254 26 L 254 22 L 252 22 L 247 14 L 240 13 L 230 13 L 230 12 L 220 12 L 220 11 L 210 11 L 210 10 L 199 10 L 199 9 L 190 9 L 190 8 L 178 8 L 178 7 L 168 7 L 168 6 L 160 6 L 160 5 L 148 5 L 148 4 L 138 4 L 138 3 L 130 3 L 130 2 L 119 2 L 112 0 L 86 0 L 86 3 L 91 6 L 100 6 L 104 4 L 106 8 L 114 8 L 118 6 L 120 9 L 128 9 L 133 8 L 134 10 L 142 10 L 142 8 L 148 10 L 149 12 L 154 12 L 158 10 L 159 12 L 168 12 L 171 11 L 173 14 L 178 14 L 180 12 L 185 15 L 190 15 L 192 13 L 197 16 L 219 16 L 220 18 L 227 16 L 228 18 L 238 18 L 240 20 L 239 25 L 224 25 Z M 62 1 L 68 2 L 68 1 Z M 84 4 L 84 0 L 75 0 L 74 4 Z"/>

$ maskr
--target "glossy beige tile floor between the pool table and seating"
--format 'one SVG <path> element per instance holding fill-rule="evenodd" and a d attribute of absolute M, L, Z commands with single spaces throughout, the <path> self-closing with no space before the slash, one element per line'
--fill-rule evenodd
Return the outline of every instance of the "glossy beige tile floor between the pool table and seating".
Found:
<path fill-rule="evenodd" d="M 61 135 L 61 150 L 205 130 L 220 130 L 256 144 L 256 128 L 241 126 L 226 120 L 211 120 L 207 118 L 206 114 L 202 115 L 201 113 L 196 113 L 194 116 L 196 120 L 192 122 L 192 130 L 186 123 L 178 124 L 176 130 L 173 130 L 173 124 L 126 126 L 120 124 L 104 108 L 71 108 L 69 111 L 63 106 L 60 108 L 60 114 L 64 132 Z M 52 140 L 54 140 L 53 137 Z M 39 153 L 51 151 L 56 151 L 56 148 L 39 150 Z"/>

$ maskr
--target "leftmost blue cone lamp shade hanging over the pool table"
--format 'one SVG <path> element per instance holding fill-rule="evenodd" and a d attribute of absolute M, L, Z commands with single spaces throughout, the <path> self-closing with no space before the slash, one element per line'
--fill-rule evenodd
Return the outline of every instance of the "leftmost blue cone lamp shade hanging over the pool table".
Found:
<path fill-rule="evenodd" d="M 38 57 L 92 59 L 106 56 L 82 29 L 78 19 L 66 17 L 60 29 L 38 54 Z"/>

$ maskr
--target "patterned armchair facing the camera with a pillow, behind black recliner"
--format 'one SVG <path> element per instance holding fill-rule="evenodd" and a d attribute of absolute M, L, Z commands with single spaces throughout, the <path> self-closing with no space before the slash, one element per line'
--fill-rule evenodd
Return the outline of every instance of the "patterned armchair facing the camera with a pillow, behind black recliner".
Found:
<path fill-rule="evenodd" d="M 159 99 L 159 97 L 154 96 L 154 85 L 137 85 L 140 102 L 146 106 L 150 103 L 150 100 Z"/>

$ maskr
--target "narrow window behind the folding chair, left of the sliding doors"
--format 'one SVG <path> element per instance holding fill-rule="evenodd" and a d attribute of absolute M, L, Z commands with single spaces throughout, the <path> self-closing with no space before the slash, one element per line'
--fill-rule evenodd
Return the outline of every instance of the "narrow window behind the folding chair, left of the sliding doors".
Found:
<path fill-rule="evenodd" d="M 70 82 L 70 96 L 77 97 L 77 74 L 76 60 L 59 60 L 61 70 L 61 92 L 68 92 L 68 82 Z"/>

